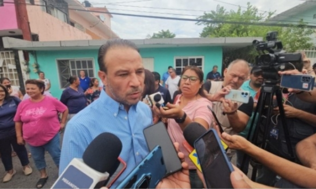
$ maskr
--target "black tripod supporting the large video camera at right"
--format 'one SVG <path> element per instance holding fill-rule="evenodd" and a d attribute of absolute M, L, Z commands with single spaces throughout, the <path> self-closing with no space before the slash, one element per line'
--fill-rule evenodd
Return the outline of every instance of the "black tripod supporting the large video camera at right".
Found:
<path fill-rule="evenodd" d="M 269 82 L 269 84 L 266 84 L 267 82 Z M 280 88 L 280 86 L 276 85 L 275 81 L 267 81 L 267 82 L 265 82 L 261 87 L 261 90 L 260 90 L 261 93 L 260 93 L 258 104 L 257 104 L 256 110 L 255 110 L 254 118 L 251 121 L 249 133 L 247 135 L 247 140 L 250 141 L 251 143 L 253 143 L 254 145 L 264 149 L 264 150 L 266 149 L 267 141 L 268 141 L 267 140 L 268 134 L 270 133 L 269 128 L 270 128 L 270 124 L 272 122 L 271 117 L 272 117 L 272 110 L 273 110 L 273 96 L 274 96 L 274 94 L 276 94 L 277 105 L 279 107 L 279 112 L 280 112 L 282 127 L 283 127 L 283 131 L 284 131 L 284 135 L 285 135 L 287 150 L 288 150 L 290 157 L 294 159 L 294 153 L 293 153 L 293 150 L 291 147 L 291 142 L 290 142 L 289 130 L 288 130 L 286 120 L 285 120 L 284 108 L 283 108 L 283 103 L 282 103 L 281 88 Z M 260 123 L 262 123 L 262 121 L 263 121 L 263 112 L 265 111 L 266 105 L 268 105 L 269 107 L 268 107 L 267 118 L 266 118 L 267 120 L 266 120 L 266 123 L 264 125 L 263 139 L 262 139 L 262 141 L 258 141 L 259 132 L 260 132 Z M 251 140 L 249 140 L 250 136 L 251 136 L 252 128 L 254 127 L 254 124 L 255 124 L 257 113 L 259 113 L 259 119 L 258 119 L 256 128 L 255 128 L 255 131 L 254 131 L 254 136 L 252 137 Z M 260 168 L 262 166 L 259 162 L 256 162 L 256 160 L 250 158 L 250 156 L 248 156 L 247 154 L 244 154 L 243 158 L 242 158 L 242 163 L 241 163 L 240 169 L 242 172 L 246 172 L 244 170 L 246 168 L 245 163 L 249 159 L 250 159 L 250 164 L 253 167 L 251 180 L 255 181 L 256 176 L 257 176 L 257 170 L 258 170 L 258 168 Z"/>

